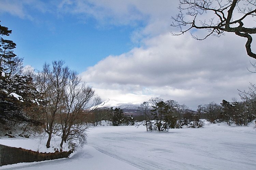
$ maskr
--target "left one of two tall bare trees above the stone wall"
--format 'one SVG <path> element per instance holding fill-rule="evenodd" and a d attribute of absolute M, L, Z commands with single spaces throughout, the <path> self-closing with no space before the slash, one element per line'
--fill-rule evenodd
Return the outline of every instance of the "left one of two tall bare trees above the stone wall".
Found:
<path fill-rule="evenodd" d="M 65 87 L 68 83 L 69 68 L 64 67 L 65 62 L 53 61 L 43 65 L 43 71 L 37 77 L 38 89 L 43 93 L 43 104 L 40 105 L 43 114 L 44 131 L 48 134 L 46 148 L 50 147 L 53 132 L 58 131 L 56 115 L 64 107 Z"/>

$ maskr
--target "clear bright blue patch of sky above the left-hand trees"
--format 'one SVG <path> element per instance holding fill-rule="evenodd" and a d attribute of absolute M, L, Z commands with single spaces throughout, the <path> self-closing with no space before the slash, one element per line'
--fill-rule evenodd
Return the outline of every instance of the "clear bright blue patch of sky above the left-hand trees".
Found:
<path fill-rule="evenodd" d="M 34 20 L 1 13 L 1 24 L 13 30 L 9 39 L 17 44 L 15 53 L 24 57 L 24 65 L 36 69 L 44 62 L 65 60 L 82 72 L 108 55 L 120 55 L 136 46 L 130 40 L 134 26 L 99 26 L 94 18 L 81 21 L 68 14 L 29 14 Z"/>

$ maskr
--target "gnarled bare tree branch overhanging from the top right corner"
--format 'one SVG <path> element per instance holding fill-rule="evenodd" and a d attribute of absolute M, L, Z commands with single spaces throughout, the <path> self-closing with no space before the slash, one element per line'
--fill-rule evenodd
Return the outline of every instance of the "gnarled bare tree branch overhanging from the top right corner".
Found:
<path fill-rule="evenodd" d="M 191 29 L 204 29 L 209 33 L 202 38 L 192 35 L 197 40 L 203 40 L 210 35 L 221 36 L 232 32 L 247 38 L 245 48 L 248 56 L 256 58 L 251 50 L 252 36 L 256 27 L 244 27 L 246 20 L 255 21 L 256 0 L 180 0 L 179 14 L 172 16 L 172 27 L 180 28 L 181 35 Z M 205 18 L 206 17 L 206 18 Z"/>

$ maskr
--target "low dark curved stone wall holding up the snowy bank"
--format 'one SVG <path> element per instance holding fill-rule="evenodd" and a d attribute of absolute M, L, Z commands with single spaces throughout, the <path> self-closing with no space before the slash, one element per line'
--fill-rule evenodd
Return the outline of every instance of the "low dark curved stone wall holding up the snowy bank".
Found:
<path fill-rule="evenodd" d="M 38 162 L 42 160 L 67 158 L 71 153 L 72 151 L 40 153 L 22 148 L 0 145 L 0 166 L 22 162 Z"/>

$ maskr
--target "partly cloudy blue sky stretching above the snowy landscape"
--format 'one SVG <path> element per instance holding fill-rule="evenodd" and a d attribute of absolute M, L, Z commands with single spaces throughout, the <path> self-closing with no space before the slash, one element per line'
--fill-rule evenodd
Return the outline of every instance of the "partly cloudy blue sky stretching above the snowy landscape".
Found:
<path fill-rule="evenodd" d="M 179 31 L 170 26 L 177 6 L 178 0 L 0 0 L 0 24 L 12 30 L 8 39 L 24 66 L 40 70 L 64 60 L 102 101 L 159 97 L 196 109 L 239 99 L 238 89 L 248 90 L 256 78 L 246 39 L 172 36 Z"/>

